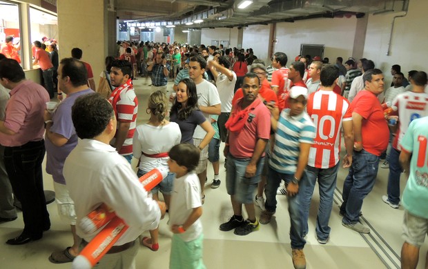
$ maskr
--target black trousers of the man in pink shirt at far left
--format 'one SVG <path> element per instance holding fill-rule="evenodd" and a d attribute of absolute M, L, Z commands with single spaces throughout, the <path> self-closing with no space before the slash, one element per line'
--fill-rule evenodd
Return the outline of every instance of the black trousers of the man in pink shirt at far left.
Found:
<path fill-rule="evenodd" d="M 45 152 L 43 139 L 4 150 L 10 184 L 22 205 L 23 235 L 33 238 L 40 238 L 43 230 L 50 228 L 41 168 Z"/>

